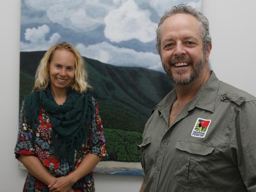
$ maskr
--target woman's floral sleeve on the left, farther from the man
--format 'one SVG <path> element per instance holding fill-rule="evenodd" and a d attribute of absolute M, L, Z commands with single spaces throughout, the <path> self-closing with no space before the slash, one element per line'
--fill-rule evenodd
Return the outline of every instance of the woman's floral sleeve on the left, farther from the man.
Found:
<path fill-rule="evenodd" d="M 32 144 L 32 127 L 26 123 L 24 101 L 20 109 L 19 132 L 14 152 L 16 159 L 19 159 L 19 155 L 36 155 Z"/>

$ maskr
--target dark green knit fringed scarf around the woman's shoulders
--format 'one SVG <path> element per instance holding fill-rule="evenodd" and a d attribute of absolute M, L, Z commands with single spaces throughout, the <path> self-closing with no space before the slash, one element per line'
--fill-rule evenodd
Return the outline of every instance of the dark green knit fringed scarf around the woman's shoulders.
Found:
<path fill-rule="evenodd" d="M 54 155 L 61 162 L 73 165 L 74 153 L 78 152 L 88 138 L 89 124 L 94 107 L 91 91 L 81 94 L 75 90 L 67 91 L 67 98 L 63 105 L 58 105 L 49 87 L 35 91 L 24 98 L 27 122 L 32 126 L 33 143 L 35 129 L 39 126 L 38 112 L 41 107 L 50 115 L 52 123 L 52 142 Z"/>

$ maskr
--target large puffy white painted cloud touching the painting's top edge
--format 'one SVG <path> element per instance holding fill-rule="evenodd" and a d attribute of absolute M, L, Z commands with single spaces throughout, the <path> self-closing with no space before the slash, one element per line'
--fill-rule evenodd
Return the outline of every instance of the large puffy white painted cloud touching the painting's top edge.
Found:
<path fill-rule="evenodd" d="M 109 11 L 104 21 L 105 37 L 112 42 L 131 39 L 150 42 L 155 38 L 157 24 L 150 20 L 150 12 L 139 9 L 133 0 L 128 0 L 118 9 Z"/>

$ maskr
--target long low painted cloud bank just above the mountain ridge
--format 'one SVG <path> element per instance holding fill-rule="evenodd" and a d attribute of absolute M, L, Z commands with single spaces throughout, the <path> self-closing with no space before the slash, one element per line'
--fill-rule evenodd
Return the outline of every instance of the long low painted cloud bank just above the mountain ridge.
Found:
<path fill-rule="evenodd" d="M 163 71 L 159 55 L 152 52 L 136 52 L 133 49 L 119 48 L 108 42 L 85 46 L 78 43 L 79 52 L 91 59 L 116 66 L 139 66 L 143 68 Z"/>

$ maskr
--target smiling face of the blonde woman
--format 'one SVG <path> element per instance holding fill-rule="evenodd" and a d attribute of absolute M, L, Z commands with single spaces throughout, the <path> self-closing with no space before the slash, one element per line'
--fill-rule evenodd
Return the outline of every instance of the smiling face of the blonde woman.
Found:
<path fill-rule="evenodd" d="M 75 76 L 75 55 L 65 49 L 54 52 L 49 66 L 50 86 L 52 91 L 67 89 Z"/>

